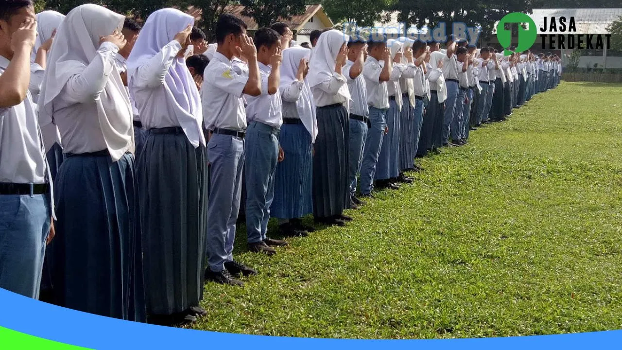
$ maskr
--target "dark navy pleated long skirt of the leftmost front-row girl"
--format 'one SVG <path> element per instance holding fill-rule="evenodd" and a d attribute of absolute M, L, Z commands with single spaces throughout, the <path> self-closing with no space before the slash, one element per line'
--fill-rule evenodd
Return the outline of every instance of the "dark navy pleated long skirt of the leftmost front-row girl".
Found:
<path fill-rule="evenodd" d="M 134 156 L 68 154 L 55 184 L 57 305 L 145 321 Z"/>

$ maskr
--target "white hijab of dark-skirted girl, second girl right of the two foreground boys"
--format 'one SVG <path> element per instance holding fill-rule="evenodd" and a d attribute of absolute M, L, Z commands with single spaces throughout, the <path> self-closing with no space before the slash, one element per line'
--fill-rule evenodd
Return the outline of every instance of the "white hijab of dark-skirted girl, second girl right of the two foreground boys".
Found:
<path fill-rule="evenodd" d="M 309 59 L 309 75 L 307 81 L 309 87 L 315 87 L 321 83 L 330 80 L 335 72 L 335 64 L 337 64 L 337 55 L 343 44 L 346 44 L 350 37 L 343 32 L 331 29 L 323 32 L 317 39 L 317 44 L 313 48 L 313 53 Z M 345 106 L 348 106 L 350 98 L 350 90 L 348 84 L 343 84 L 339 88 L 337 95 L 345 98 Z M 348 111 L 350 113 L 350 111 Z"/>

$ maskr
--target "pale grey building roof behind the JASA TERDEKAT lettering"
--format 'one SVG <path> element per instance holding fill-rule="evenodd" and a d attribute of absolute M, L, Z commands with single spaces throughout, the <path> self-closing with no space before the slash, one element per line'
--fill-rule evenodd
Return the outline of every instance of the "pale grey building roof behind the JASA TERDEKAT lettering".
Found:
<path fill-rule="evenodd" d="M 536 22 L 538 34 L 610 34 L 607 27 L 611 22 L 616 21 L 622 16 L 620 9 L 533 9 L 531 18 Z M 547 26 L 551 17 L 555 17 L 557 22 L 557 32 L 540 30 L 544 24 L 544 17 L 547 17 Z M 566 17 L 566 31 L 559 32 L 559 17 Z M 576 32 L 568 32 L 570 17 L 574 17 Z"/>

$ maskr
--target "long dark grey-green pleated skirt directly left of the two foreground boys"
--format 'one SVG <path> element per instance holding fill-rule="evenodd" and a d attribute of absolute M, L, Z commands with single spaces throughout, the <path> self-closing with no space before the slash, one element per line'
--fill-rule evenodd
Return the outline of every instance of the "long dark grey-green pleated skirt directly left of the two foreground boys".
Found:
<path fill-rule="evenodd" d="M 207 151 L 181 128 L 152 129 L 138 174 L 147 313 L 182 313 L 203 298 Z"/>

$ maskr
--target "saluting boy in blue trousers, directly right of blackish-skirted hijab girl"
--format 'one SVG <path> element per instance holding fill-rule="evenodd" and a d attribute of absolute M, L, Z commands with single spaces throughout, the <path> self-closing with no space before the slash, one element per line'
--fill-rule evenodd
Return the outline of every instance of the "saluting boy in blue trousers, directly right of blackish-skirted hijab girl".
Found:
<path fill-rule="evenodd" d="M 367 138 L 369 108 L 367 106 L 367 90 L 363 77 L 364 55 L 366 42 L 357 39 L 348 42 L 348 61 L 343 67 L 343 76 L 348 80 L 350 90 L 350 140 L 348 140 L 348 185 L 350 186 L 350 207 L 357 209 L 363 201 L 356 195 L 358 174 L 363 162 L 363 149 Z"/>

